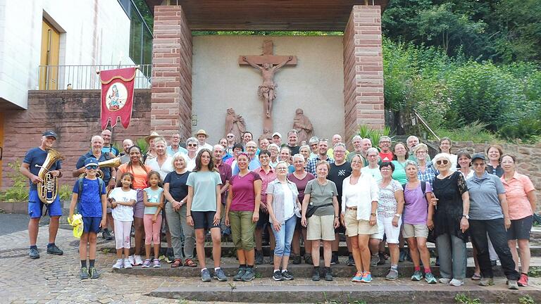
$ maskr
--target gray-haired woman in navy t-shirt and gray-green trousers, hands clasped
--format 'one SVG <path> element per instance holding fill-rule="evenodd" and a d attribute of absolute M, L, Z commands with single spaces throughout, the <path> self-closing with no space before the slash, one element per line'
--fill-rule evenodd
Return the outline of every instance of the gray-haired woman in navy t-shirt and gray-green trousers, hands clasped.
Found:
<path fill-rule="evenodd" d="M 188 175 L 191 173 L 186 168 L 186 156 L 177 152 L 173 155 L 173 172 L 169 172 L 163 179 L 163 194 L 169 203 L 166 204 L 166 216 L 171 233 L 171 243 L 175 260 L 171 267 L 197 267 L 194 258 L 194 227 L 186 222 L 186 200 L 188 186 L 186 184 Z M 182 252 L 182 239 L 185 241 L 184 252 Z M 182 259 L 185 258 L 184 262 Z"/>

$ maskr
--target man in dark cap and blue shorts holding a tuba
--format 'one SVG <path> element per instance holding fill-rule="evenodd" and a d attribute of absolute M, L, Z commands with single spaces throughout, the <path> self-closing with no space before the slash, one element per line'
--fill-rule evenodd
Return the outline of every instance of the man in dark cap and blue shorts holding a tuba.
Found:
<path fill-rule="evenodd" d="M 23 164 L 20 165 L 20 172 L 30 179 L 30 193 L 28 195 L 28 214 L 30 215 L 30 222 L 28 222 L 28 234 L 30 237 L 30 258 L 39 258 L 39 251 L 37 251 L 37 232 L 39 230 L 39 219 L 42 217 L 42 209 L 45 201 L 44 198 L 39 196 L 41 191 L 38 191 L 37 186 L 47 183 L 42 177 L 42 172 L 48 172 L 47 178 L 52 178 L 58 182 L 56 178 L 61 177 L 61 158 L 58 152 L 52 149 L 54 141 L 56 141 L 56 133 L 53 131 L 45 131 L 42 136 L 41 145 L 37 148 L 31 148 L 25 155 Z M 49 153 L 51 156 L 49 155 Z M 49 158 L 48 158 L 49 156 Z M 41 172 L 40 172 L 41 170 Z M 46 176 L 46 175 L 43 175 Z M 58 188 L 56 188 L 58 189 Z M 47 253 L 54 255 L 62 255 L 61 251 L 54 243 L 56 239 L 56 233 L 58 232 L 58 222 L 62 215 L 62 205 L 60 203 L 60 196 L 57 195 L 57 190 L 52 196 L 53 200 L 47 204 L 47 212 L 51 217 L 49 224 L 49 244 L 47 244 Z"/>

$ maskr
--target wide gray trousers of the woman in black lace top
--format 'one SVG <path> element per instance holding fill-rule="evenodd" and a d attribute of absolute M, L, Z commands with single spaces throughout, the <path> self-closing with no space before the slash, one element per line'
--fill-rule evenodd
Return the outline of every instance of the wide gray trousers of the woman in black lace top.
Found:
<path fill-rule="evenodd" d="M 466 277 L 466 243 L 462 239 L 442 234 L 436 238 L 436 249 L 440 255 L 440 274 L 446 279 Z"/>

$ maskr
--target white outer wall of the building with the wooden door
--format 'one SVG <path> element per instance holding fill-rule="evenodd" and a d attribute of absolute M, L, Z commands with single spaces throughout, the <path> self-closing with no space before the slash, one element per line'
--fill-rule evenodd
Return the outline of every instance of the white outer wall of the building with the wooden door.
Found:
<path fill-rule="evenodd" d="M 133 64 L 130 20 L 118 1 L 1 0 L 1 99 L 27 108 L 27 91 L 37 89 L 44 15 L 60 27 L 60 65 Z"/>

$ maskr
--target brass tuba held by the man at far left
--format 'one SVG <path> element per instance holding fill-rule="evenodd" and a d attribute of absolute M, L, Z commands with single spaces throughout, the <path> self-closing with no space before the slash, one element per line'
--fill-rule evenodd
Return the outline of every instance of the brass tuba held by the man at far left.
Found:
<path fill-rule="evenodd" d="M 51 174 L 49 169 L 56 163 L 58 160 L 63 160 L 64 157 L 58 153 L 58 151 L 48 148 L 47 157 L 43 162 L 43 165 L 37 165 L 40 167 L 37 176 L 43 180 L 43 182 L 37 183 L 37 195 L 39 196 L 39 201 L 42 201 L 45 204 L 53 203 L 56 200 L 58 195 L 58 177 L 55 177 Z"/>

